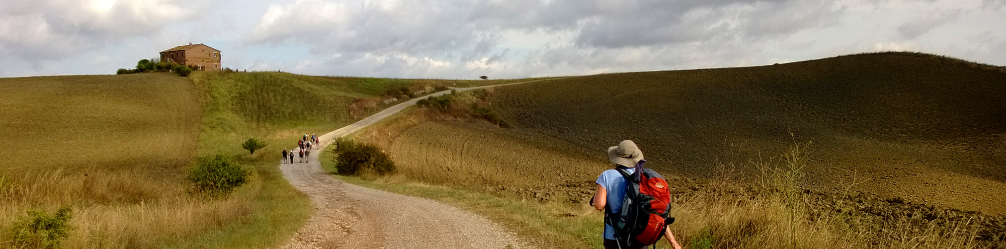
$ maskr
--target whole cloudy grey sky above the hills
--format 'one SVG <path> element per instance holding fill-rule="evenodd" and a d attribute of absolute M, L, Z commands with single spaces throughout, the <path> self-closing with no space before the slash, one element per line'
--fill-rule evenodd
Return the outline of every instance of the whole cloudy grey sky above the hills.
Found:
<path fill-rule="evenodd" d="M 490 78 L 872 51 L 1006 65 L 1006 0 L 0 0 L 0 77 L 114 74 L 192 43 L 239 70 Z"/>

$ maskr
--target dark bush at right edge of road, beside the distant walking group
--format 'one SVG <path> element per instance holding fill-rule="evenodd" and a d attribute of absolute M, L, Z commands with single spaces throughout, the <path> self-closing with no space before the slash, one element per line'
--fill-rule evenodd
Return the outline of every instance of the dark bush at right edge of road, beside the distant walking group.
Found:
<path fill-rule="evenodd" d="M 335 169 L 339 175 L 354 176 L 364 171 L 385 175 L 394 172 L 394 163 L 375 146 L 336 140 Z"/>

